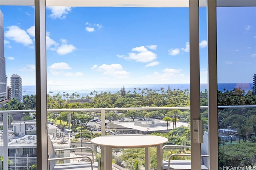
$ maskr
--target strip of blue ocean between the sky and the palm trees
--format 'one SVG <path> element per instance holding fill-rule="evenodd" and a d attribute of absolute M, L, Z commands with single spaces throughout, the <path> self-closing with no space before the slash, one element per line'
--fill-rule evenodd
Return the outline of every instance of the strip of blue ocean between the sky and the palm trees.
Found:
<path fill-rule="evenodd" d="M 100 94 L 101 92 L 111 92 L 116 93 L 121 90 L 122 87 L 125 88 L 126 92 L 129 90 L 131 93 L 134 92 L 134 88 L 136 88 L 136 92 L 139 93 L 139 88 L 141 89 L 140 92 L 145 89 L 152 89 L 152 90 L 160 90 L 163 88 L 164 91 L 168 90 L 168 86 L 170 85 L 170 89 L 180 89 L 190 90 L 190 84 L 124 84 L 124 85 L 77 85 L 77 86 L 48 86 L 47 92 L 51 91 L 52 93 L 49 93 L 51 96 L 56 95 L 57 93 L 60 93 L 60 95 L 69 94 L 72 93 L 79 94 L 80 97 L 82 96 L 90 96 L 90 93 L 97 92 Z M 246 92 L 248 90 L 252 91 L 253 84 L 252 83 L 219 83 L 218 84 L 218 90 L 225 91 L 225 90 L 233 90 L 234 88 L 242 88 Z M 200 91 L 204 91 L 205 89 L 208 89 L 208 84 L 200 84 Z M 225 89 L 225 90 L 224 90 Z M 161 92 L 161 91 L 160 91 Z M 24 95 L 35 95 L 36 94 L 36 86 L 22 86 L 22 96 Z"/>

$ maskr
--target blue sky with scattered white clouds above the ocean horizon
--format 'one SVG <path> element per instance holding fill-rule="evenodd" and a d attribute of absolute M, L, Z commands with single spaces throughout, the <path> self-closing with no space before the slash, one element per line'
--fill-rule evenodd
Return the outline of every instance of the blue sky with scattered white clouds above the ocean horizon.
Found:
<path fill-rule="evenodd" d="M 34 85 L 34 8 L 0 9 L 8 84 L 14 73 Z M 217 14 L 218 82 L 252 82 L 256 8 L 218 8 Z M 188 8 L 51 7 L 46 31 L 48 85 L 190 81 Z M 207 83 L 206 8 L 199 41 L 200 81 Z"/>

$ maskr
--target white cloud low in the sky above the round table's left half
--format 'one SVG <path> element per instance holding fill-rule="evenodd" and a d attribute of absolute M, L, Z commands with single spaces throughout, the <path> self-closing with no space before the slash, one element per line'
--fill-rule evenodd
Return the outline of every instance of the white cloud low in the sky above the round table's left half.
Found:
<path fill-rule="evenodd" d="M 92 69 L 102 72 L 103 75 L 115 78 L 127 78 L 129 76 L 129 72 L 125 71 L 121 64 L 102 64 L 101 66 L 94 65 Z"/>

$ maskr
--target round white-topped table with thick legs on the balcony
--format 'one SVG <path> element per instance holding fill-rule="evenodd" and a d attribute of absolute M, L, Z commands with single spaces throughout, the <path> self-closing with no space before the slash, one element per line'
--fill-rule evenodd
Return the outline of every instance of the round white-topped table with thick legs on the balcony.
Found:
<path fill-rule="evenodd" d="M 145 169 L 150 170 L 150 147 L 156 146 L 157 170 L 163 169 L 163 151 L 162 144 L 166 143 L 166 137 L 154 135 L 109 135 L 96 137 L 91 140 L 92 143 L 104 147 L 103 163 L 104 170 L 112 169 L 112 148 L 145 148 Z"/>

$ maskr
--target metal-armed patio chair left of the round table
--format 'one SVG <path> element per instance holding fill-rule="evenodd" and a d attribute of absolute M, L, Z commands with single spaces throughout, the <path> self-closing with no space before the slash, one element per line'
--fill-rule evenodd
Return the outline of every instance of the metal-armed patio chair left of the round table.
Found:
<path fill-rule="evenodd" d="M 74 149 L 90 149 L 92 151 L 92 158 L 89 156 L 73 156 L 73 157 L 62 157 L 55 158 L 56 151 L 62 150 L 74 150 Z M 88 160 L 87 162 L 72 162 L 72 163 L 63 163 L 56 164 L 57 160 L 66 160 L 66 159 L 80 159 Z M 48 168 L 49 170 L 98 170 L 98 163 L 94 162 L 93 150 L 90 147 L 78 147 L 78 148 L 67 148 L 67 149 L 54 149 L 50 136 L 48 136 Z"/>

